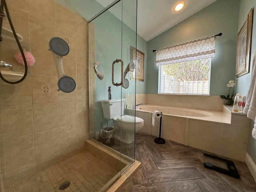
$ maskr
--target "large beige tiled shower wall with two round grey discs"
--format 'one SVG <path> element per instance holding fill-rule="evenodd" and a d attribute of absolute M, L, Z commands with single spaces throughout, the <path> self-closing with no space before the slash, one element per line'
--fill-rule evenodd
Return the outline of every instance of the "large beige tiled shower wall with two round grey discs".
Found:
<path fill-rule="evenodd" d="M 36 60 L 19 84 L 0 80 L 0 160 L 5 185 L 80 151 L 88 131 L 87 21 L 54 0 L 6 0 L 22 47 Z M 4 27 L 10 29 L 7 18 Z M 74 78 L 71 93 L 57 91 L 54 59 L 48 51 L 52 37 L 66 39 L 70 52 L 63 57 L 67 76 Z M 24 71 L 15 61 L 15 41 L 1 42 L 0 58 Z M 1 69 L 2 70 L 2 69 Z M 42 86 L 50 91 L 45 94 Z"/>

